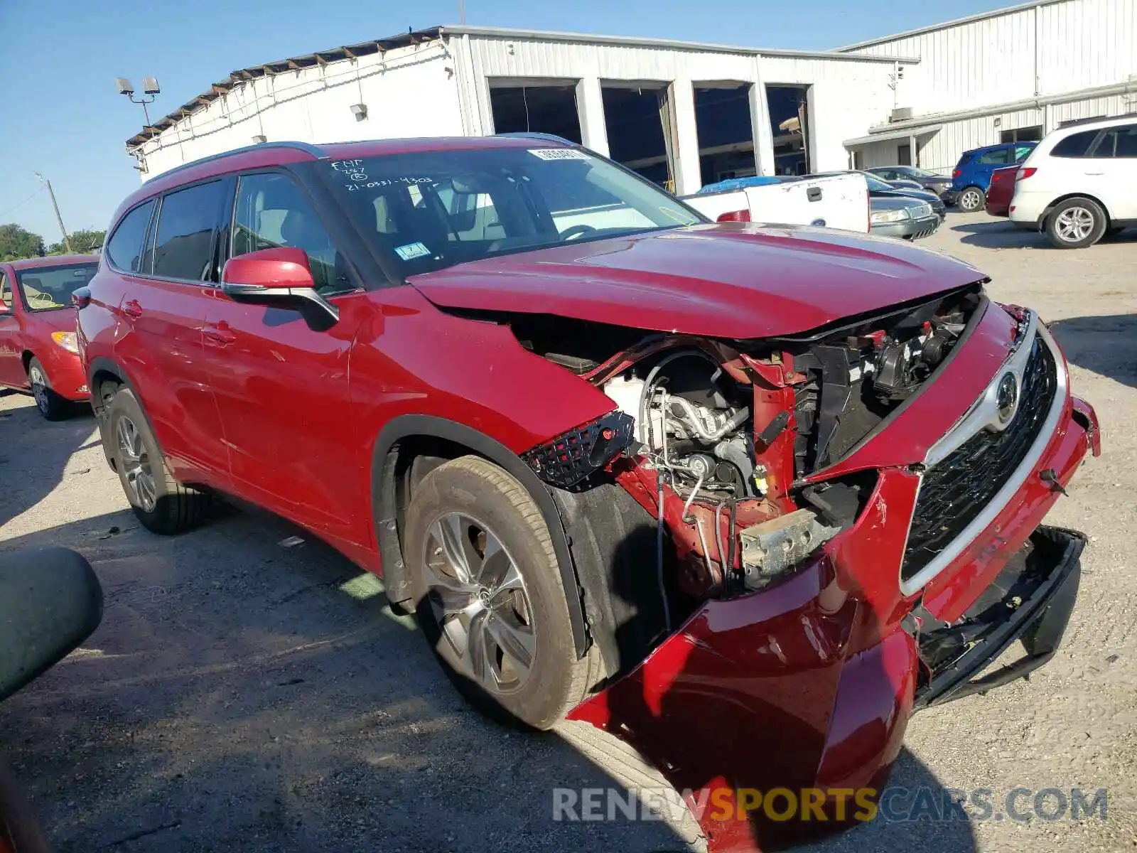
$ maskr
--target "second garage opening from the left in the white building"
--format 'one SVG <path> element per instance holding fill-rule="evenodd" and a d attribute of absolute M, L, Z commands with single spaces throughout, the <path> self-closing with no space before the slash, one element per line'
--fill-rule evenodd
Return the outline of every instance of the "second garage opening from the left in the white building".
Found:
<path fill-rule="evenodd" d="M 666 86 L 607 84 L 604 122 L 616 163 L 674 192 L 674 123 Z"/>

